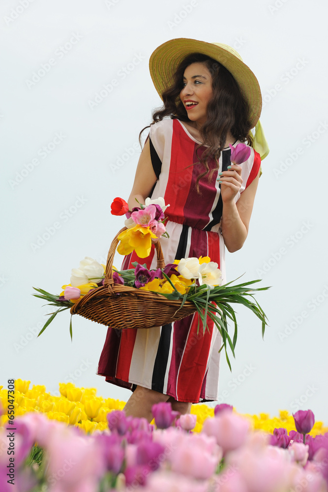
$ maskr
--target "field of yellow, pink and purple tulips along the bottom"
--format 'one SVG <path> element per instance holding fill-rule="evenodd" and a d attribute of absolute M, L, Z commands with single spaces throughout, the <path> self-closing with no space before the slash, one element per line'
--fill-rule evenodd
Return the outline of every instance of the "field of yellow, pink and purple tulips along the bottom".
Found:
<path fill-rule="evenodd" d="M 154 420 L 124 402 L 60 383 L 0 386 L 0 491 L 325 492 L 328 428 L 311 410 L 240 415 L 227 404 Z M 10 389 L 13 387 L 13 389 Z"/>

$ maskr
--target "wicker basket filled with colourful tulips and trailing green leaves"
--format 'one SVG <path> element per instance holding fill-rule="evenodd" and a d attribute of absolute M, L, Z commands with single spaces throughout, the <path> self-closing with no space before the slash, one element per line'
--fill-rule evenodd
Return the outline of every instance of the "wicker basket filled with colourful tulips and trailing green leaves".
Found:
<path fill-rule="evenodd" d="M 65 309 L 71 314 L 80 314 L 92 321 L 116 329 L 151 328 L 163 326 L 197 312 L 198 330 L 203 334 L 211 320 L 222 336 L 228 365 L 227 345 L 235 356 L 238 325 L 233 304 L 242 304 L 251 309 L 262 322 L 264 335 L 267 317 L 254 299 L 257 291 L 268 287 L 254 288 L 260 280 L 252 280 L 238 285 L 232 282 L 221 285 L 221 272 L 218 264 L 209 257 L 182 258 L 173 264 L 165 265 L 158 239 L 168 237 L 165 229 L 164 211 L 168 207 L 163 198 L 150 200 L 146 204 L 129 211 L 122 198 L 115 198 L 112 214 L 126 214 L 125 227 L 119 231 L 110 247 L 107 264 L 100 265 L 90 257 L 80 262 L 78 269 L 72 270 L 71 283 L 63 285 L 59 296 L 36 289 L 33 294 L 59 307 L 51 313 L 39 335 L 47 328 L 54 317 Z M 148 270 L 146 264 L 134 262 L 134 268 L 119 271 L 113 267 L 116 249 L 120 254 L 136 251 L 140 258 L 149 256 L 152 241 L 156 241 L 157 268 Z M 119 245 L 119 246 L 118 246 Z M 234 335 L 228 333 L 228 321 L 234 324 Z M 72 338 L 72 319 L 70 322 Z"/>

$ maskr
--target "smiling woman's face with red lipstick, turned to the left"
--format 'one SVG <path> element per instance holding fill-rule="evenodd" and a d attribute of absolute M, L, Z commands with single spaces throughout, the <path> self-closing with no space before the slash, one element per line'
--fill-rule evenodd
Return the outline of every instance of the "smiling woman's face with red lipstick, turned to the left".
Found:
<path fill-rule="evenodd" d="M 203 125 L 207 120 L 207 105 L 212 97 L 212 77 L 204 63 L 191 63 L 184 70 L 180 99 L 189 120 Z"/>

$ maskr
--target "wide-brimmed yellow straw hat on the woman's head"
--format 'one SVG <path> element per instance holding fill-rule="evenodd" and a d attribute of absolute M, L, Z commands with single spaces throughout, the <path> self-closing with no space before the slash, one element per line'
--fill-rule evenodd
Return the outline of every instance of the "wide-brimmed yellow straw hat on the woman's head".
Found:
<path fill-rule="evenodd" d="M 257 78 L 251 69 L 241 60 L 234 48 L 223 43 L 207 43 L 196 39 L 170 39 L 158 46 L 151 54 L 149 70 L 156 91 L 162 98 L 162 92 L 173 83 L 173 74 L 179 63 L 191 53 L 203 53 L 224 65 L 233 75 L 240 91 L 250 108 L 250 120 L 253 127 L 258 122 L 262 108 L 262 96 Z"/>

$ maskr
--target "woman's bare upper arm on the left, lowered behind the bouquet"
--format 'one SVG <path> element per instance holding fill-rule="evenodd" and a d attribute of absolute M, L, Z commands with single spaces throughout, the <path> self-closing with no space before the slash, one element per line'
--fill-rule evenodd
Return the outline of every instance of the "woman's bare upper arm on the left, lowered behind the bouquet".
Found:
<path fill-rule="evenodd" d="M 134 183 L 127 202 L 130 210 L 132 210 L 133 207 L 138 207 L 138 203 L 135 199 L 143 205 L 145 204 L 145 200 L 149 197 L 150 191 L 156 181 L 157 177 L 151 164 L 148 138 L 139 157 Z"/>

